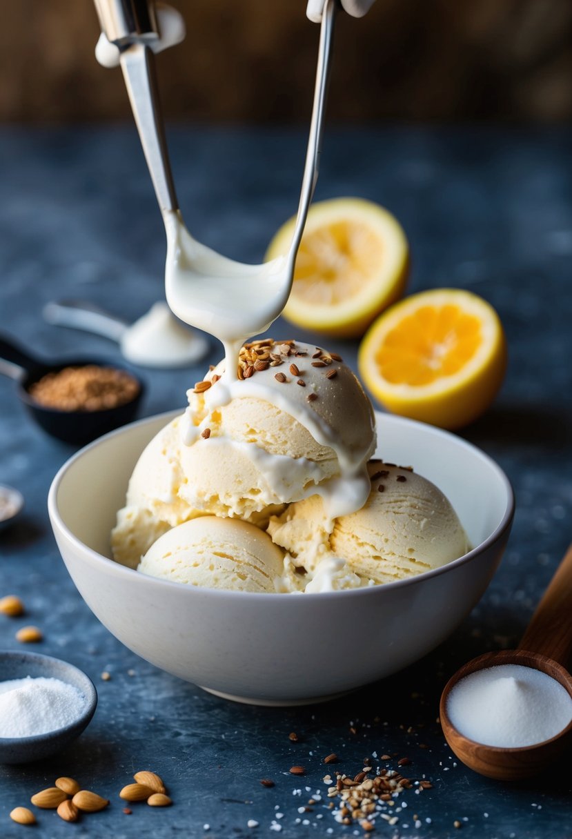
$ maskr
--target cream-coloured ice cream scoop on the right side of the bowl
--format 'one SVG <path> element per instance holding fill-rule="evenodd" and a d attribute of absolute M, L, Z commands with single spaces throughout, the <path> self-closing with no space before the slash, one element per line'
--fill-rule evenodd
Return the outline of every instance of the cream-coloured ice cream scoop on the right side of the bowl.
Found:
<path fill-rule="evenodd" d="M 333 557 L 359 577 L 337 569 L 333 587 L 403 580 L 445 565 L 468 550 L 465 530 L 443 492 L 408 468 L 371 461 L 372 490 L 355 513 L 328 519 L 319 496 L 290 504 L 268 533 L 295 565 L 318 576 Z M 320 572 L 320 577 L 324 576 Z M 311 587 L 307 591 L 313 591 Z"/>

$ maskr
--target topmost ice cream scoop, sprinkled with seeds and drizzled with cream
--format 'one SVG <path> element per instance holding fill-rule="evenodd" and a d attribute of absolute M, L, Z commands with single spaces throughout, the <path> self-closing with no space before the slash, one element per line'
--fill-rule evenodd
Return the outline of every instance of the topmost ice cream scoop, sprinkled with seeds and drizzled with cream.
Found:
<path fill-rule="evenodd" d="M 180 498 L 242 519 L 315 492 L 337 513 L 360 507 L 376 438 L 351 369 L 294 341 L 246 345 L 240 363 L 242 378 L 221 362 L 189 392 Z"/>

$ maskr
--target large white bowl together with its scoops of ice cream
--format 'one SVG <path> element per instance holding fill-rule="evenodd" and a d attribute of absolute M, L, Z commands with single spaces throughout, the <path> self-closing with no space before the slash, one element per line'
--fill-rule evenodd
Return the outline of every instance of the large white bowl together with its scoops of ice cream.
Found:
<path fill-rule="evenodd" d="M 259 704 L 336 696 L 434 649 L 485 591 L 512 524 L 512 489 L 484 452 L 374 417 L 345 365 L 294 349 L 231 383 L 216 368 L 185 414 L 96 440 L 49 492 L 101 623 L 163 670 Z"/>

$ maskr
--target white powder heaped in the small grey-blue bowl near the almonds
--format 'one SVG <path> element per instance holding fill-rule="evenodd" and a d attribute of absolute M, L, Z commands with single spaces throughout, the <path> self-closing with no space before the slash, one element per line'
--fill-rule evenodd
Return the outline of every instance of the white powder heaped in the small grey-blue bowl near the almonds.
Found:
<path fill-rule="evenodd" d="M 60 679 L 40 676 L 0 682 L 0 737 L 34 737 L 69 726 L 86 697 Z"/>

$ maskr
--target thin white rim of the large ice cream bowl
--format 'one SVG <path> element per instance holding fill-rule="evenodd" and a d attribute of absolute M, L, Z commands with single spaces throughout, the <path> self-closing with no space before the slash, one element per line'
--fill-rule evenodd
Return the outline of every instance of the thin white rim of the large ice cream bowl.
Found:
<path fill-rule="evenodd" d="M 83 543 L 81 539 L 78 539 L 75 536 L 75 534 L 64 523 L 64 520 L 62 519 L 60 511 L 58 509 L 58 491 L 60 488 L 60 482 L 63 480 L 66 472 L 70 469 L 70 467 L 74 465 L 75 461 L 81 459 L 81 457 L 84 456 L 84 454 L 87 451 L 91 451 L 92 449 L 95 449 L 97 446 L 101 446 L 102 444 L 104 444 L 106 440 L 109 440 L 110 437 L 127 434 L 129 430 L 132 430 L 140 425 L 145 425 L 146 423 L 151 424 L 159 419 L 164 419 L 166 425 L 170 420 L 173 420 L 174 417 L 178 416 L 180 413 L 180 409 L 175 411 L 167 411 L 164 414 L 154 414 L 153 416 L 146 417 L 143 420 L 138 420 L 137 422 L 129 423 L 128 425 L 123 425 L 122 428 L 110 431 L 108 434 L 99 437 L 97 440 L 94 440 L 88 446 L 84 446 L 84 448 L 82 448 L 80 451 L 77 451 L 75 455 L 71 456 L 69 460 L 65 461 L 64 465 L 60 467 L 60 470 L 55 475 L 51 487 L 49 487 L 48 509 L 49 516 L 52 520 L 54 528 L 64 533 L 67 536 L 67 538 L 70 539 L 70 542 L 75 546 L 75 550 L 82 555 L 86 555 L 86 557 L 89 560 L 91 560 L 92 564 L 99 565 L 100 563 L 103 563 L 104 565 L 107 565 L 107 571 L 111 571 L 112 573 L 118 574 L 120 576 L 125 576 L 126 579 L 135 574 L 138 576 L 139 579 L 141 577 L 144 577 L 144 579 L 148 581 L 149 585 L 169 587 L 174 586 L 179 590 L 188 591 L 189 597 L 197 596 L 197 594 L 200 593 L 200 597 L 212 598 L 216 601 L 225 601 L 228 598 L 230 598 L 232 601 L 236 601 L 236 598 L 238 597 L 241 599 L 241 601 L 251 600 L 252 602 L 256 602 L 259 601 L 262 597 L 264 602 L 268 602 L 269 598 L 278 597 L 279 600 L 283 602 L 285 597 L 283 594 L 280 593 L 260 591 L 228 591 L 226 589 L 212 589 L 205 588 L 202 586 L 200 588 L 197 588 L 195 586 L 185 586 L 184 583 L 164 580 L 159 577 L 142 575 L 138 571 L 135 571 L 132 568 L 127 568 L 125 565 L 120 565 L 119 563 L 115 562 L 115 560 L 112 560 L 107 556 L 103 556 L 96 550 L 93 550 L 88 545 Z M 409 420 L 408 418 L 397 416 L 394 414 L 382 414 L 382 417 L 384 423 L 390 422 L 398 425 L 404 425 L 405 427 L 419 427 L 423 428 L 424 431 L 429 431 L 430 433 L 438 437 L 445 437 L 455 440 L 455 445 L 463 446 L 465 448 L 470 449 L 473 452 L 473 454 L 481 457 L 484 461 L 486 461 L 488 466 L 490 466 L 491 469 L 497 473 L 497 477 L 502 482 L 506 492 L 507 503 L 506 508 L 502 514 L 502 519 L 499 522 L 499 524 L 497 524 L 497 527 L 491 532 L 491 534 L 489 534 L 486 537 L 486 539 L 481 541 L 479 545 L 476 545 L 465 555 L 460 556 L 459 559 L 453 560 L 447 563 L 446 565 L 441 565 L 439 566 L 439 568 L 434 568 L 431 571 L 424 571 L 422 574 L 408 577 L 405 580 L 387 582 L 384 583 L 383 586 L 367 586 L 363 588 L 346 589 L 342 591 L 320 591 L 317 593 L 304 593 L 304 595 L 301 597 L 295 597 L 295 600 L 298 603 L 300 602 L 300 600 L 302 600 L 304 602 L 308 601 L 309 604 L 315 604 L 318 601 L 323 602 L 325 598 L 336 599 L 343 597 L 347 599 L 348 597 L 376 597 L 376 593 L 380 591 L 380 589 L 387 592 L 389 590 L 393 590 L 394 588 L 413 586 L 416 583 L 419 583 L 420 580 L 427 580 L 430 577 L 436 577 L 441 574 L 446 574 L 447 571 L 450 571 L 451 569 L 456 568 L 459 565 L 465 565 L 465 563 L 469 563 L 471 562 L 471 560 L 475 560 L 490 545 L 493 545 L 498 539 L 501 538 L 502 534 L 505 533 L 505 531 L 512 522 L 515 503 L 514 492 L 512 490 L 511 482 L 508 480 L 505 472 L 502 471 L 502 468 L 498 466 L 497 462 L 494 461 L 490 456 L 486 455 L 484 451 L 481 451 L 481 449 L 479 449 L 478 446 L 474 446 L 472 443 L 467 442 L 458 435 L 452 434 L 450 431 L 445 431 L 440 428 L 437 428 L 436 426 L 427 425 L 426 423 L 420 423 L 417 420 Z"/>

